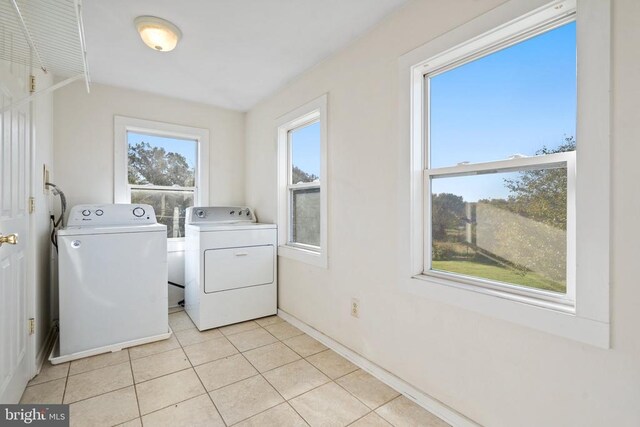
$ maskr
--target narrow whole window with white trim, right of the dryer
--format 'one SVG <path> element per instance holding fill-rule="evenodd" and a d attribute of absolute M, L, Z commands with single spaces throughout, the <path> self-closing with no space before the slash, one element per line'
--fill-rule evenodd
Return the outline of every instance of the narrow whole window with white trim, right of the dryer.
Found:
<path fill-rule="evenodd" d="M 279 255 L 326 266 L 326 97 L 278 121 Z"/>

